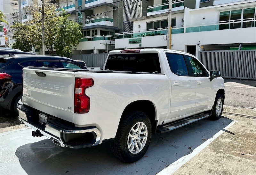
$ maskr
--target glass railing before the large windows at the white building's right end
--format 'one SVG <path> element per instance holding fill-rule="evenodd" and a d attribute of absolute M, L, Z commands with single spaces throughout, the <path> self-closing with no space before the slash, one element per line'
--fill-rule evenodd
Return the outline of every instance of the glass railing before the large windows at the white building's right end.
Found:
<path fill-rule="evenodd" d="M 235 29 L 235 28 L 246 28 L 246 27 L 255 27 L 256 18 L 241 19 L 230 21 L 221 21 L 215 23 L 205 23 L 201 25 L 190 25 L 186 27 L 186 33 L 189 32 L 204 32 L 212 30 L 224 30 L 224 29 Z"/>

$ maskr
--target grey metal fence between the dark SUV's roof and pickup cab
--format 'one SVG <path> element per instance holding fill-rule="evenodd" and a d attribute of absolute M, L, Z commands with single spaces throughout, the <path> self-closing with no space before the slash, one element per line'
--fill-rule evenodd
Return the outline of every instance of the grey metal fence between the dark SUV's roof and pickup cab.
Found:
<path fill-rule="evenodd" d="M 108 54 L 71 54 L 73 60 L 83 60 L 88 67 L 103 68 Z"/>

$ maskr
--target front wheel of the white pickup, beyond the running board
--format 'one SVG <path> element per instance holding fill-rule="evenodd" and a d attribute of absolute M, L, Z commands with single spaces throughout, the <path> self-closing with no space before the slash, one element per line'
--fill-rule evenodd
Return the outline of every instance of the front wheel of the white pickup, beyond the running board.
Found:
<path fill-rule="evenodd" d="M 212 107 L 212 115 L 209 117 L 211 120 L 219 120 L 223 111 L 223 97 L 218 94 L 215 99 L 215 103 Z"/>

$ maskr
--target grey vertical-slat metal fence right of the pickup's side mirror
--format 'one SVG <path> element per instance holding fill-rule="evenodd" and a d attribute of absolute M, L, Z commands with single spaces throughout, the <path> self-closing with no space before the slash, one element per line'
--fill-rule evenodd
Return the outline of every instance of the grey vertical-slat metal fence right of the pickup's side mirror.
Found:
<path fill-rule="evenodd" d="M 200 51 L 200 61 L 221 77 L 256 79 L 256 50 Z"/>

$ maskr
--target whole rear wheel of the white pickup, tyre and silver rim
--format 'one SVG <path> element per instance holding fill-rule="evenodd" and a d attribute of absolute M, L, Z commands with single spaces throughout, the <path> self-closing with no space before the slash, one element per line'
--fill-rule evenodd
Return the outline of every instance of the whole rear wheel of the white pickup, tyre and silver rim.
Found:
<path fill-rule="evenodd" d="M 152 126 L 148 116 L 142 112 L 132 112 L 125 116 L 116 138 L 110 143 L 113 154 L 120 160 L 132 163 L 144 156 L 152 136 Z"/>

